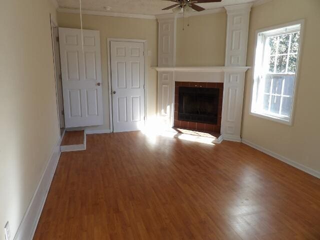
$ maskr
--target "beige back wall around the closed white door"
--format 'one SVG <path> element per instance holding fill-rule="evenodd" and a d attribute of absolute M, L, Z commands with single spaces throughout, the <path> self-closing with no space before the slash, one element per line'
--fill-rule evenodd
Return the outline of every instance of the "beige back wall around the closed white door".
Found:
<path fill-rule="evenodd" d="M 57 13 L 59 27 L 80 28 L 79 14 Z M 101 126 L 91 129 L 110 129 L 107 38 L 146 39 L 147 48 L 152 55 L 147 57 L 147 117 L 155 115 L 156 111 L 156 71 L 150 66 L 157 65 L 157 22 L 155 19 L 139 19 L 113 16 L 82 15 L 83 28 L 100 31 L 103 121 Z"/>

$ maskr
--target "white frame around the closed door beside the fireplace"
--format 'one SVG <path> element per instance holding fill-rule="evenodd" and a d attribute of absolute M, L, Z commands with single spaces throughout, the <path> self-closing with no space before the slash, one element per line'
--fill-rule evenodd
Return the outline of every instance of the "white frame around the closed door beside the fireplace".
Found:
<path fill-rule="evenodd" d="M 126 38 L 107 38 L 107 55 L 108 55 L 108 91 L 109 91 L 109 114 L 110 114 L 110 132 L 113 132 L 113 111 L 112 111 L 112 87 L 111 87 L 111 41 L 128 41 L 128 42 L 142 42 L 143 43 L 143 55 L 144 55 L 144 124 L 146 121 L 146 82 L 147 82 L 147 41 L 146 39 L 126 39 Z"/>

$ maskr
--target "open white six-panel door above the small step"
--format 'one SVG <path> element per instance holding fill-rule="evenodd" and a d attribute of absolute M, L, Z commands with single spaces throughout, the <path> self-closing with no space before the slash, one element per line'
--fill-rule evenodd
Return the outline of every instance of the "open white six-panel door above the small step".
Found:
<path fill-rule="evenodd" d="M 100 34 L 59 27 L 65 127 L 103 124 Z"/>

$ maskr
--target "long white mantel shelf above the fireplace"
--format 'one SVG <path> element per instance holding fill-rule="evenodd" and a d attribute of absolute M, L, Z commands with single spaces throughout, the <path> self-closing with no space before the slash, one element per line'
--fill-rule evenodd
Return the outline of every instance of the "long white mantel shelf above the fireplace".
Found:
<path fill-rule="evenodd" d="M 250 66 L 153 66 L 157 71 L 245 72 Z"/>

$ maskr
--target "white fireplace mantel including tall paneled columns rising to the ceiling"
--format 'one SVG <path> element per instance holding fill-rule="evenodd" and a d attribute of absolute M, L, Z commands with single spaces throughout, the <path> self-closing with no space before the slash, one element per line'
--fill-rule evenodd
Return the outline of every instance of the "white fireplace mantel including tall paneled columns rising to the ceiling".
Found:
<path fill-rule="evenodd" d="M 241 117 L 251 3 L 226 6 L 225 66 L 175 66 L 176 17 L 158 18 L 157 116 L 172 126 L 175 81 L 223 82 L 221 136 L 241 141 Z"/>

